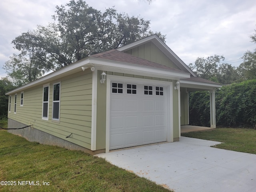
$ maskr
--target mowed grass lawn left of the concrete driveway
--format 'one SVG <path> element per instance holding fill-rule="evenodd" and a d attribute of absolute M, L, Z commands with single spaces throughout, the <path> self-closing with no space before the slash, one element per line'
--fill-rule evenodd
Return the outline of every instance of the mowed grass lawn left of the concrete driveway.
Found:
<path fill-rule="evenodd" d="M 0 130 L 0 181 L 13 184 L 0 185 L 1 192 L 169 192 L 102 158 L 28 142 L 6 130 Z"/>

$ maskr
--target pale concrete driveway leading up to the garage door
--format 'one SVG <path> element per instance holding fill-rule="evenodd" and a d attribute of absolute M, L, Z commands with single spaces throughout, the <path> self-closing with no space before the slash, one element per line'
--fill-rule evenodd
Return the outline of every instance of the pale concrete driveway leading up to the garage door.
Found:
<path fill-rule="evenodd" d="M 210 147 L 219 143 L 181 137 L 97 156 L 175 192 L 255 192 L 256 155 Z"/>

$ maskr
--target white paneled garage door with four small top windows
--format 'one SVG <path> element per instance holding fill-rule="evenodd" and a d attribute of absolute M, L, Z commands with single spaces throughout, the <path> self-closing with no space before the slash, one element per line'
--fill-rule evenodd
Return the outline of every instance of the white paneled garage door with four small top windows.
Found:
<path fill-rule="evenodd" d="M 166 141 L 166 86 L 110 84 L 110 150 Z"/>

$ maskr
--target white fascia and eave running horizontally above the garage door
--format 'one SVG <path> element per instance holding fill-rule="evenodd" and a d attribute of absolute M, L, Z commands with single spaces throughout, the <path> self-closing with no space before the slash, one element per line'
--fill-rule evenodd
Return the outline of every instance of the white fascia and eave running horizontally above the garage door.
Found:
<path fill-rule="evenodd" d="M 190 74 L 186 72 L 165 70 L 162 68 L 155 68 L 149 66 L 140 66 L 137 64 L 130 64 L 125 62 L 118 62 L 106 60 L 101 58 L 90 58 L 90 63 L 94 64 L 98 70 L 109 70 L 112 72 L 120 72 L 127 74 L 135 74 L 141 76 L 152 76 L 166 79 L 182 79 L 190 78 Z"/>

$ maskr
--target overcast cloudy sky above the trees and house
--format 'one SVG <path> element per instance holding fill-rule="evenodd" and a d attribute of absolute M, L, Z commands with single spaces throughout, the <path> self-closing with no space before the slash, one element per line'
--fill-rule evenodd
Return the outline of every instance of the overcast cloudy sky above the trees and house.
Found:
<path fill-rule="evenodd" d="M 53 22 L 56 6 L 69 0 L 0 1 L 0 77 L 2 66 L 12 54 L 12 40 L 37 25 Z M 224 55 L 225 62 L 239 66 L 246 50 L 256 44 L 250 35 L 256 29 L 255 0 L 86 0 L 97 10 L 115 6 L 129 16 L 151 21 L 151 30 L 166 34 L 166 44 L 186 63 L 198 57 Z"/>

